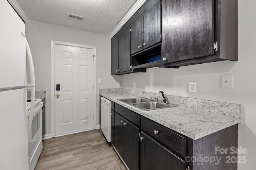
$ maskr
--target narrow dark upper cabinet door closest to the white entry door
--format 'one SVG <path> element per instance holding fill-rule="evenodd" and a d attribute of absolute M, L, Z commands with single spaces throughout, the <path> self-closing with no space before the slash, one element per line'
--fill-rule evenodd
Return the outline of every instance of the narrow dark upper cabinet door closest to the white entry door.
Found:
<path fill-rule="evenodd" d="M 118 38 L 111 39 L 111 74 L 118 73 Z"/>

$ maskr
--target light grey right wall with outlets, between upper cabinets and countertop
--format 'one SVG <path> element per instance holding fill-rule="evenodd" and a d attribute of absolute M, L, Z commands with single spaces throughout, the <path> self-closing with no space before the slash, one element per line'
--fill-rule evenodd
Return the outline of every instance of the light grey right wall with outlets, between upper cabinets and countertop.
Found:
<path fill-rule="evenodd" d="M 242 104 L 238 125 L 238 147 L 248 150 L 246 164 L 238 170 L 254 169 L 256 153 L 256 20 L 255 0 L 238 1 L 238 62 L 221 61 L 173 68 L 149 68 L 146 73 L 122 75 L 122 88 Z M 234 88 L 221 88 L 221 75 L 234 75 Z M 188 92 L 188 82 L 196 81 L 196 93 Z"/>

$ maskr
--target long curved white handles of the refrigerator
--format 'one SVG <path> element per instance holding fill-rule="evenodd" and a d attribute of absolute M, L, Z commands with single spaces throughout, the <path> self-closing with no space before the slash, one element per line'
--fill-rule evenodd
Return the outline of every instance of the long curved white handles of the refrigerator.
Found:
<path fill-rule="evenodd" d="M 26 39 L 26 38 L 25 38 Z M 28 63 L 30 69 L 30 80 L 31 84 L 26 84 L 26 89 L 31 89 L 31 107 L 30 107 L 30 117 L 28 119 L 28 133 L 32 125 L 33 117 L 34 117 L 34 108 L 35 108 L 35 93 L 36 93 L 36 82 L 35 82 L 35 71 L 34 71 L 34 63 L 31 55 L 31 51 L 28 45 L 28 41 L 26 39 L 26 53 L 28 55 Z"/>

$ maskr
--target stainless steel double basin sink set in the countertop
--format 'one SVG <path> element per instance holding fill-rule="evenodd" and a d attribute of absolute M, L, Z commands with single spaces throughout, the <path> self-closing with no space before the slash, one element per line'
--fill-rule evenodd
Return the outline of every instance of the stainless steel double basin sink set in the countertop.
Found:
<path fill-rule="evenodd" d="M 154 109 L 162 109 L 166 107 L 175 107 L 178 105 L 175 104 L 164 104 L 155 100 L 150 100 L 146 98 L 128 98 L 128 99 L 120 99 L 120 101 L 130 104 L 132 106 L 138 107 L 142 110 L 154 110 Z"/>

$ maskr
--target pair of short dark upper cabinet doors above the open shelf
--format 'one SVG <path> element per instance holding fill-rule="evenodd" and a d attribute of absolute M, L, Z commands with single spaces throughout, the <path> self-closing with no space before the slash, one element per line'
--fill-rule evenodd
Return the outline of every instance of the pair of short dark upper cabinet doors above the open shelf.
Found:
<path fill-rule="evenodd" d="M 158 0 L 131 26 L 131 54 L 161 42 L 161 4 Z"/>

